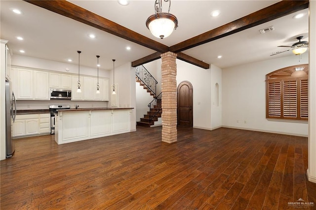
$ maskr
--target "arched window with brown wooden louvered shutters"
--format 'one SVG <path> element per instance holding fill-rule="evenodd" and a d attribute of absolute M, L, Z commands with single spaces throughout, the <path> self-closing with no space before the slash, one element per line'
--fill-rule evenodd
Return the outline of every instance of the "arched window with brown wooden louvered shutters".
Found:
<path fill-rule="evenodd" d="M 266 117 L 308 120 L 308 64 L 266 75 Z"/>

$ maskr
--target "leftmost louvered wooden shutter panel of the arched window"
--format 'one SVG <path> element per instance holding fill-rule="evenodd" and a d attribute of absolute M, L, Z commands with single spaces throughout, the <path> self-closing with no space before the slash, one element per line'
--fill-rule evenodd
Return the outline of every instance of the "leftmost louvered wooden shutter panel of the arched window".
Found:
<path fill-rule="evenodd" d="M 270 117 L 281 116 L 281 82 L 269 82 L 268 113 Z"/>

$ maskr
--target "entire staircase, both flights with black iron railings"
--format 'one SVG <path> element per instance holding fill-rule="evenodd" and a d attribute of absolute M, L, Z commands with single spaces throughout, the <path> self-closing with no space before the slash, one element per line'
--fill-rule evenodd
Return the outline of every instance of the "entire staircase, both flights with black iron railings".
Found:
<path fill-rule="evenodd" d="M 158 121 L 159 117 L 161 117 L 161 93 L 156 96 L 158 82 L 143 65 L 136 67 L 135 72 L 136 81 L 154 97 L 154 100 L 148 104 L 149 111 L 147 111 L 147 114 L 144 114 L 143 118 L 140 118 L 137 125 L 150 127 L 151 125 L 154 125 L 155 121 Z"/>

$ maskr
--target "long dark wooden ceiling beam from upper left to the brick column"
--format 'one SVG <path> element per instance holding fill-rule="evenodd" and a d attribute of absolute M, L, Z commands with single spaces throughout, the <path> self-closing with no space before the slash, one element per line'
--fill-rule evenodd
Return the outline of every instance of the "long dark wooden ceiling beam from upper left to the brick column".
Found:
<path fill-rule="evenodd" d="M 150 39 L 129 30 L 117 23 L 97 15 L 89 10 L 77 6 L 67 0 L 25 0 L 26 2 L 40 6 L 49 11 L 77 20 L 94 28 L 108 32 L 112 35 L 124 38 L 144 47 L 164 53 L 169 51 L 169 47 L 158 41 Z"/>

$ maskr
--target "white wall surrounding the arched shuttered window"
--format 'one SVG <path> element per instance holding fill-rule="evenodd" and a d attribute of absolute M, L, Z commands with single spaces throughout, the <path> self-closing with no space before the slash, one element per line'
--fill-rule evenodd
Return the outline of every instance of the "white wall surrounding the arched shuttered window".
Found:
<path fill-rule="evenodd" d="M 266 119 L 266 74 L 284 67 L 307 64 L 308 54 L 276 58 L 223 70 L 223 126 L 307 136 L 308 124 Z"/>

